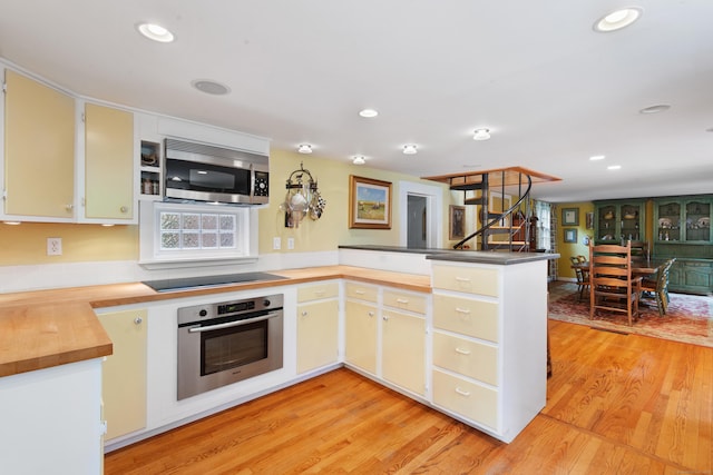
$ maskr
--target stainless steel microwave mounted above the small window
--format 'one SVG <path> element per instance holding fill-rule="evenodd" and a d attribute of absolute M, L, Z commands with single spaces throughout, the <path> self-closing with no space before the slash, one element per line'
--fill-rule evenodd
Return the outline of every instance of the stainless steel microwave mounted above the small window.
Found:
<path fill-rule="evenodd" d="M 270 200 L 268 157 L 166 139 L 165 198 L 228 205 Z"/>

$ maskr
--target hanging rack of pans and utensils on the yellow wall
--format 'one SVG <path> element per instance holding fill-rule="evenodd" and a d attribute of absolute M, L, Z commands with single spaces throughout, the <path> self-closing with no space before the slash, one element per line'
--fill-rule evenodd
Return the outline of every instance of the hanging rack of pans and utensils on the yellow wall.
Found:
<path fill-rule="evenodd" d="M 305 216 L 313 220 L 322 217 L 326 201 L 318 190 L 316 180 L 312 178 L 310 170 L 304 169 L 302 162 L 299 170 L 290 174 L 285 188 L 287 194 L 280 205 L 280 209 L 285 214 L 285 227 L 299 227 Z"/>

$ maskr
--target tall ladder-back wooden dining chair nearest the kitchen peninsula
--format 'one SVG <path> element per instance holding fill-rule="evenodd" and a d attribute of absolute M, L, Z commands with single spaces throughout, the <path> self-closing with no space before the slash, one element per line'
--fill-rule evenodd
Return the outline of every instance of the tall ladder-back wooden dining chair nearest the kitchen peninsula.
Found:
<path fill-rule="evenodd" d="M 589 244 L 589 318 L 599 310 L 638 318 L 642 278 L 632 277 L 632 247 Z"/>

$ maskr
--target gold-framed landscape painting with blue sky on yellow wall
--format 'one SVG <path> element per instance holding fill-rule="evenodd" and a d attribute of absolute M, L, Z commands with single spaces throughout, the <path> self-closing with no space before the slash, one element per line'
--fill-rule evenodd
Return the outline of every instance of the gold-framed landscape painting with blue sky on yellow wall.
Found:
<path fill-rule="evenodd" d="M 349 227 L 391 229 L 391 182 L 349 177 Z"/>

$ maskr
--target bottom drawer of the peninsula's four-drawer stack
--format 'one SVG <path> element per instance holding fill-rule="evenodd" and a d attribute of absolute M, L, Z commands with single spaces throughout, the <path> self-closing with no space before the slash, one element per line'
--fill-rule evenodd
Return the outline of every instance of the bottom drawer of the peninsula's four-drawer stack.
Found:
<path fill-rule="evenodd" d="M 498 392 L 433 369 L 433 403 L 470 420 L 498 428 Z"/>

